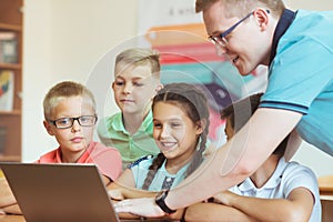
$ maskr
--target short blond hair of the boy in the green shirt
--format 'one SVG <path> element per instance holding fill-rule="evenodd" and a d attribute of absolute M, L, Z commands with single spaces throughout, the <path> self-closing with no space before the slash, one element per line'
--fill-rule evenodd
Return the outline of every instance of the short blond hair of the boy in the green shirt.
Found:
<path fill-rule="evenodd" d="M 151 73 L 160 77 L 160 54 L 158 51 L 149 48 L 132 48 L 119 53 L 115 58 L 115 67 L 119 62 L 124 62 L 129 65 L 145 65 L 150 64 Z"/>

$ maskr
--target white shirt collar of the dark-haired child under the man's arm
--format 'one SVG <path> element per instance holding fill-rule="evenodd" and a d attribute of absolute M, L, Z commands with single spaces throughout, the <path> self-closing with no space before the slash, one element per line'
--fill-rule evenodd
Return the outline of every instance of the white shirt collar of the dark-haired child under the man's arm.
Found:
<path fill-rule="evenodd" d="M 287 167 L 287 163 L 285 162 L 284 158 L 281 158 L 279 160 L 279 163 L 278 163 L 278 167 L 276 167 L 274 173 L 272 174 L 272 176 L 269 179 L 269 181 L 262 188 L 260 188 L 260 189 L 256 188 L 253 184 L 252 180 L 250 178 L 248 178 L 243 183 L 241 183 L 239 185 L 239 189 L 242 192 L 246 192 L 250 190 L 274 189 L 280 184 L 282 174 L 283 174 L 284 170 L 286 169 L 286 167 Z"/>

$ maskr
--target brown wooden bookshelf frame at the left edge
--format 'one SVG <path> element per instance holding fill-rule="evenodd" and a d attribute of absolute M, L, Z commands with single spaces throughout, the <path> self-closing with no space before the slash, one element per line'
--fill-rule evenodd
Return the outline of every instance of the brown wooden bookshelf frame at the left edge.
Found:
<path fill-rule="evenodd" d="M 13 104 L 10 111 L 0 111 L 0 162 L 20 162 L 22 147 L 22 48 L 23 0 L 0 0 L 0 33 L 13 32 L 17 41 L 17 62 L 0 63 L 0 71 L 9 70 L 13 75 Z M 6 60 L 1 60 L 6 61 Z M 10 61 L 10 60 L 8 60 Z"/>

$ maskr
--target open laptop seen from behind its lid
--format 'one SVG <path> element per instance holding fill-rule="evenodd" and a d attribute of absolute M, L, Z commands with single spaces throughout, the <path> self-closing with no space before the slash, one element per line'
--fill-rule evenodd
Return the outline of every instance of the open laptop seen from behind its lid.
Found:
<path fill-rule="evenodd" d="M 27 222 L 118 222 L 93 164 L 0 163 Z"/>

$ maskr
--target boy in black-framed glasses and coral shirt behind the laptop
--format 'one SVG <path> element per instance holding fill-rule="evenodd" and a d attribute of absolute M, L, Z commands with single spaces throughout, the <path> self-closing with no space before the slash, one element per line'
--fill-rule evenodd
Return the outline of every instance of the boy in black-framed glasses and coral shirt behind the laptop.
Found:
<path fill-rule="evenodd" d="M 105 185 L 120 175 L 119 151 L 92 141 L 95 102 L 84 85 L 71 81 L 56 84 L 47 93 L 43 109 L 44 128 L 56 137 L 59 148 L 40 157 L 37 163 L 94 163 Z M 6 179 L 0 180 L 0 208 L 20 213 Z"/>

